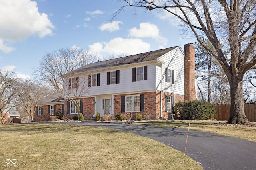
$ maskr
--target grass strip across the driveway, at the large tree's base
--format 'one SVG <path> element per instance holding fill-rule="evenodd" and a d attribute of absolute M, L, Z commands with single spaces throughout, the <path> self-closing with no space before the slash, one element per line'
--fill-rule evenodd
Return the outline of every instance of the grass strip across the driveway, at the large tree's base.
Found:
<path fill-rule="evenodd" d="M 137 124 L 188 129 L 188 125 L 190 123 L 190 130 L 205 131 L 210 133 L 216 133 L 219 135 L 238 137 L 241 139 L 246 139 L 249 141 L 256 142 L 256 126 L 244 127 L 240 125 L 224 125 L 225 122 L 226 121 L 174 120 L 174 121 L 150 121 L 150 122 L 144 122 L 144 123 L 142 122 Z"/>

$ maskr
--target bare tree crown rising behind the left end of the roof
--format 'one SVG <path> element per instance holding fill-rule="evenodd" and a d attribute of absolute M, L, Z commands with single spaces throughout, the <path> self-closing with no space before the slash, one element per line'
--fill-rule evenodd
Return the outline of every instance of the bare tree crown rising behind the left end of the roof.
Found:
<path fill-rule="evenodd" d="M 43 83 L 47 83 L 50 88 L 62 92 L 62 75 L 71 72 L 86 64 L 96 61 L 96 55 L 88 49 L 78 47 L 61 48 L 52 53 L 46 53 L 34 72 Z"/>

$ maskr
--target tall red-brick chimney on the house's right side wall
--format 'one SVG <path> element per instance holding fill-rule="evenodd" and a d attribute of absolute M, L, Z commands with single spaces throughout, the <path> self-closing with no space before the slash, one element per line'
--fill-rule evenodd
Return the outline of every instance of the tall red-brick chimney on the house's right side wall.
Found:
<path fill-rule="evenodd" d="M 196 100 L 195 49 L 192 43 L 184 45 L 184 101 Z"/>

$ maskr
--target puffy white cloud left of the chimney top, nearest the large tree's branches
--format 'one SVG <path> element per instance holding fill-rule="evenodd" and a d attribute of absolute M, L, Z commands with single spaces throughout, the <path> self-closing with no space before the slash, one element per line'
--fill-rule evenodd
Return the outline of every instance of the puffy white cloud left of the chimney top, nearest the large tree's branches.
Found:
<path fill-rule="evenodd" d="M 137 29 L 136 27 L 133 27 L 129 30 L 128 36 L 139 38 L 149 37 L 155 39 L 159 43 L 163 43 L 164 45 L 168 42 L 165 37 L 160 35 L 158 27 L 152 23 L 140 23 L 140 28 Z"/>

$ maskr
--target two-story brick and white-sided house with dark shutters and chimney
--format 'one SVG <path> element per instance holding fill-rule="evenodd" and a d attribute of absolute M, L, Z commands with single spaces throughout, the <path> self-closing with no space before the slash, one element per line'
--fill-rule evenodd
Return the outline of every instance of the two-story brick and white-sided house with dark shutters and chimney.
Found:
<path fill-rule="evenodd" d="M 70 119 L 82 113 L 92 120 L 97 112 L 169 119 L 176 102 L 196 100 L 197 76 L 192 44 L 184 45 L 184 52 L 176 46 L 91 63 L 62 76 L 64 91 L 79 104 L 64 96 L 62 111 Z M 42 104 L 36 116 L 50 104 Z"/>

